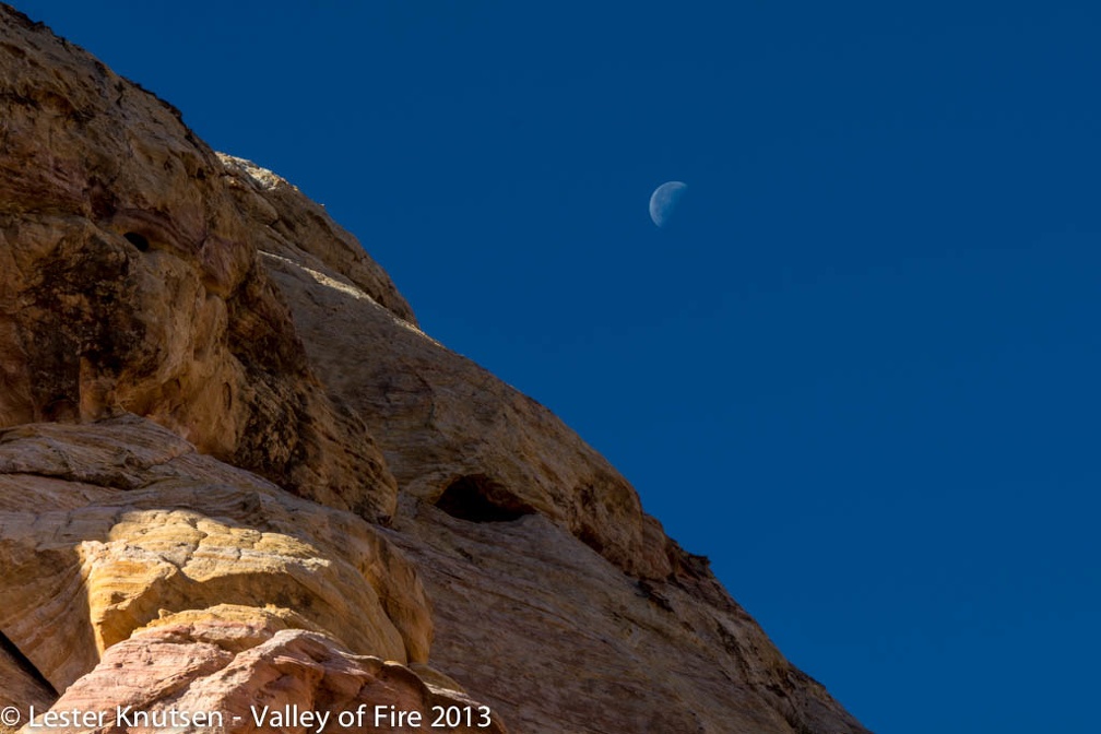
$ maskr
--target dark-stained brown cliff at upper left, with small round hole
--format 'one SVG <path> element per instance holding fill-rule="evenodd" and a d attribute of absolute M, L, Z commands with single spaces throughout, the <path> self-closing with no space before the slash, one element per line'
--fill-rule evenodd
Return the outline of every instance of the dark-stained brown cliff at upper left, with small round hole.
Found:
<path fill-rule="evenodd" d="M 9 10 L 0 34 L 0 426 L 130 412 L 389 517 L 394 479 L 318 385 L 218 157 L 48 30 Z"/>

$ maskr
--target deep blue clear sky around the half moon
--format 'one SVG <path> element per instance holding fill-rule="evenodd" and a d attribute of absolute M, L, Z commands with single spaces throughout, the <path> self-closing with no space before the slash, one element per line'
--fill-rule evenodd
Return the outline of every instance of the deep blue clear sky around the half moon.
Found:
<path fill-rule="evenodd" d="M 1095 727 L 1101 3 L 18 4 L 326 204 L 866 725 Z"/>

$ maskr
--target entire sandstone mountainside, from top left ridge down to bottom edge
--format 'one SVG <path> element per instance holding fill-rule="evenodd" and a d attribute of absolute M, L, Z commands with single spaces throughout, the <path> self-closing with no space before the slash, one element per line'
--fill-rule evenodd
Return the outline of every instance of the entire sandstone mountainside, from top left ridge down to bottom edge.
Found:
<path fill-rule="evenodd" d="M 0 708 L 865 731 L 321 207 L 4 6 L 0 430 Z"/>

